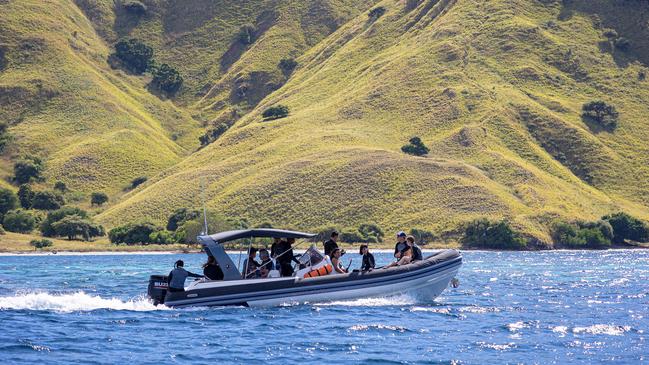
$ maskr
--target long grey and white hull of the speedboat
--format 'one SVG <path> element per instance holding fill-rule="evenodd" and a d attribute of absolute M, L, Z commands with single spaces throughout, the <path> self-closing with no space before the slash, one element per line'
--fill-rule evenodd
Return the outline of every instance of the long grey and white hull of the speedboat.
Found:
<path fill-rule="evenodd" d="M 277 278 L 195 282 L 185 292 L 168 293 L 165 305 L 281 306 L 376 298 L 400 294 L 431 301 L 457 275 L 462 257 L 455 250 L 441 251 L 423 261 L 371 272 L 318 278 Z"/>

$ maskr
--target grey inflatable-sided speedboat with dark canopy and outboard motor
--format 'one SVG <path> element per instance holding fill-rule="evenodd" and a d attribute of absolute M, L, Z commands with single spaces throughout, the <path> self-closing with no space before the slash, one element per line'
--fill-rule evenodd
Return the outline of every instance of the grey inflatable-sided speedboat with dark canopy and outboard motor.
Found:
<path fill-rule="evenodd" d="M 309 239 L 315 235 L 279 229 L 247 229 L 199 236 L 205 253 L 213 256 L 221 267 L 224 279 L 199 279 L 184 291 L 171 292 L 167 291 L 166 276 L 152 275 L 149 297 L 156 305 L 168 307 L 279 306 L 400 294 L 430 301 L 449 286 L 462 265 L 460 253 L 448 249 L 407 265 L 337 274 L 331 272 L 329 258 L 312 246 L 300 257 L 301 268 L 294 276 L 243 279 L 241 271 L 226 253 L 224 244 L 257 237 Z"/>

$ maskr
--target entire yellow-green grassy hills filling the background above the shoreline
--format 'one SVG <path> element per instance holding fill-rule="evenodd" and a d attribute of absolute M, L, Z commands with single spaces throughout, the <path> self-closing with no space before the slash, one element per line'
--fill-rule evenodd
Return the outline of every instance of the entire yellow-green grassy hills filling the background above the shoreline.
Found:
<path fill-rule="evenodd" d="M 201 181 L 211 209 L 301 229 L 453 234 L 487 216 L 548 241 L 559 217 L 649 219 L 644 3 L 144 1 L 143 15 L 62 3 L 0 2 L 1 116 L 14 155 L 47 156 L 50 179 L 117 196 L 98 216 L 107 226 L 196 207 Z M 110 68 L 121 37 L 180 70 L 177 97 Z M 294 71 L 278 67 L 285 58 Z M 593 100 L 617 109 L 614 130 L 582 119 Z M 290 115 L 264 121 L 277 104 Z M 427 156 L 401 152 L 413 136 Z"/>

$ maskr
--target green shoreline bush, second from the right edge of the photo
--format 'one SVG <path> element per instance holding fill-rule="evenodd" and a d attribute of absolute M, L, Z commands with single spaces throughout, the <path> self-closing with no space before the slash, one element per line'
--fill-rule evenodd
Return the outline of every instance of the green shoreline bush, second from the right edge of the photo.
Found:
<path fill-rule="evenodd" d="M 565 248 L 606 248 L 611 245 L 613 236 L 608 222 L 555 222 L 550 228 L 550 236 L 555 247 Z"/>

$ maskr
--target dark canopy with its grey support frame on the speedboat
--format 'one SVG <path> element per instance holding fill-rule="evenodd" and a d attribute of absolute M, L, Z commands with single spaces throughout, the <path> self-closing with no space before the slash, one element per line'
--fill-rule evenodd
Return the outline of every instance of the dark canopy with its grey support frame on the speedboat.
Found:
<path fill-rule="evenodd" d="M 244 238 L 313 238 L 316 234 L 289 231 L 274 228 L 254 228 L 225 231 L 212 235 L 198 236 L 198 242 L 203 245 L 205 253 L 213 256 L 223 271 L 223 280 L 240 280 L 241 272 L 230 256 L 225 252 L 223 244 Z M 252 243 L 251 243 L 252 244 Z M 250 245 L 249 245 L 250 246 Z"/>

